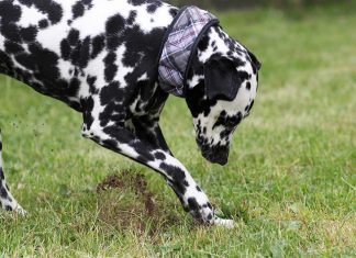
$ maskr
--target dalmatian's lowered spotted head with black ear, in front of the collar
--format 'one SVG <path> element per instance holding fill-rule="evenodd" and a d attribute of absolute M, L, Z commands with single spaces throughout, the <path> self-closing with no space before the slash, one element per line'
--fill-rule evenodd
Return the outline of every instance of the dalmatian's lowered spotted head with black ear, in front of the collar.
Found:
<path fill-rule="evenodd" d="M 260 63 L 219 26 L 205 33 L 193 55 L 186 99 L 197 144 L 205 159 L 225 165 L 233 132 L 254 104 Z"/>

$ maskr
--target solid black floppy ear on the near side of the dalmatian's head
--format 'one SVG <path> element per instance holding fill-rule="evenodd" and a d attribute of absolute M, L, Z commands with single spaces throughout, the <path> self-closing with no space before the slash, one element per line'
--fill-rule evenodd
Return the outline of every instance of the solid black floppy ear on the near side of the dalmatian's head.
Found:
<path fill-rule="evenodd" d="M 204 77 L 205 94 L 210 100 L 232 101 L 242 85 L 234 63 L 224 56 L 211 57 L 204 64 Z"/>

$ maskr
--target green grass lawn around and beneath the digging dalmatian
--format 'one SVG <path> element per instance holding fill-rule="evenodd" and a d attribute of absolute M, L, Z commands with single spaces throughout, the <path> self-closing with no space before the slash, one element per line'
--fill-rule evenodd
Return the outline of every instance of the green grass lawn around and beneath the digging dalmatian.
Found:
<path fill-rule="evenodd" d="M 225 167 L 200 156 L 183 100 L 169 99 L 166 138 L 235 218 L 232 231 L 194 225 L 160 176 L 84 139 L 78 113 L 2 77 L 5 172 L 30 214 L 0 213 L 0 257 L 355 257 L 354 14 L 343 7 L 220 15 L 263 63 L 253 114 Z M 132 189 L 97 193 L 121 170 L 145 175 L 154 215 Z"/>

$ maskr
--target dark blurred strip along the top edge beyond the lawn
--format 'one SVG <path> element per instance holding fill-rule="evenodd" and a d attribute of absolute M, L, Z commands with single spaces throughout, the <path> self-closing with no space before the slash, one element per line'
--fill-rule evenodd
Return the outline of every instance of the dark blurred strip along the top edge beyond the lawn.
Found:
<path fill-rule="evenodd" d="M 246 9 L 255 7 L 274 7 L 281 9 L 300 9 L 311 5 L 326 5 L 352 3 L 353 0 L 166 0 L 166 2 L 181 7 L 186 4 L 216 10 Z"/>

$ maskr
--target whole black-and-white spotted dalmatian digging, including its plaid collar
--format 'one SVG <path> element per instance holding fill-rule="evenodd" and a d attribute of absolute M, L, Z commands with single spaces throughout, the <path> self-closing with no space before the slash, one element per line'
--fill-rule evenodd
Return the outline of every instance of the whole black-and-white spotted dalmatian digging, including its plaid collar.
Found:
<path fill-rule="evenodd" d="M 236 126 L 257 92 L 257 58 L 196 7 L 157 0 L 0 0 L 0 74 L 82 114 L 81 133 L 159 172 L 185 211 L 219 218 L 188 169 L 171 154 L 159 114 L 185 98 L 202 156 L 225 165 Z M 24 213 L 7 186 L 0 206 Z"/>

